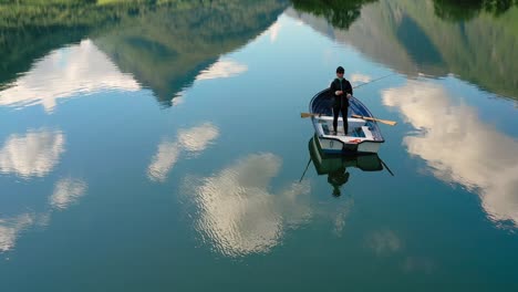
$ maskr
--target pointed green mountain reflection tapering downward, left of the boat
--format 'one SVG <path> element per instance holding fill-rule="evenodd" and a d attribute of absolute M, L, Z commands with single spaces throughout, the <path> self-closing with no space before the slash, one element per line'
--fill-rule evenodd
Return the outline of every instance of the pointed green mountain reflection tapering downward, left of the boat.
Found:
<path fill-rule="evenodd" d="M 219 56 L 268 29 L 287 6 L 281 0 L 239 0 L 163 9 L 123 21 L 95 43 L 118 67 L 152 88 L 160 103 L 170 105 L 197 77 L 210 76 L 203 72 L 246 70 L 219 63 Z"/>

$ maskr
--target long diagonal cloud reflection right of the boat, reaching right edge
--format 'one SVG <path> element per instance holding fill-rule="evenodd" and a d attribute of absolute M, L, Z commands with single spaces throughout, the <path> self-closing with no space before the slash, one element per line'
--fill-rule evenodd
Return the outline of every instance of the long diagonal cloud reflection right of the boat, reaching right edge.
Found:
<path fill-rule="evenodd" d="M 405 137 L 408 153 L 425 159 L 437 178 L 478 192 L 493 220 L 518 226 L 517 140 L 480 122 L 474 108 L 453 104 L 438 85 L 410 82 L 384 91 L 383 102 L 422 129 Z"/>

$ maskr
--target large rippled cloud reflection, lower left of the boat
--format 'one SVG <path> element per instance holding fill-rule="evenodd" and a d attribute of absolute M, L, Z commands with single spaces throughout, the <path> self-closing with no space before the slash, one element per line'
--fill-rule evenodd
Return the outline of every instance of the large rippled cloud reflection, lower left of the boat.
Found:
<path fill-rule="evenodd" d="M 287 228 L 310 218 L 308 185 L 269 192 L 280 167 L 279 157 L 256 154 L 199 181 L 186 179 L 187 201 L 196 209 L 195 228 L 218 252 L 228 257 L 268 252 Z"/>

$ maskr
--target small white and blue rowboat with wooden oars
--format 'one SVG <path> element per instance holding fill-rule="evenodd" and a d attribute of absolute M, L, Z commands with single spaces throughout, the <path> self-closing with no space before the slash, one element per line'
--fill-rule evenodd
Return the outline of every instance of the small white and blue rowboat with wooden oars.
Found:
<path fill-rule="evenodd" d="M 327 154 L 377 153 L 384 143 L 380 127 L 366 106 L 355 97 L 349 100 L 348 134 L 343 131 L 343 119 L 339 117 L 338 133 L 333 133 L 332 95 L 323 90 L 310 102 L 311 121 L 317 140 Z"/>

